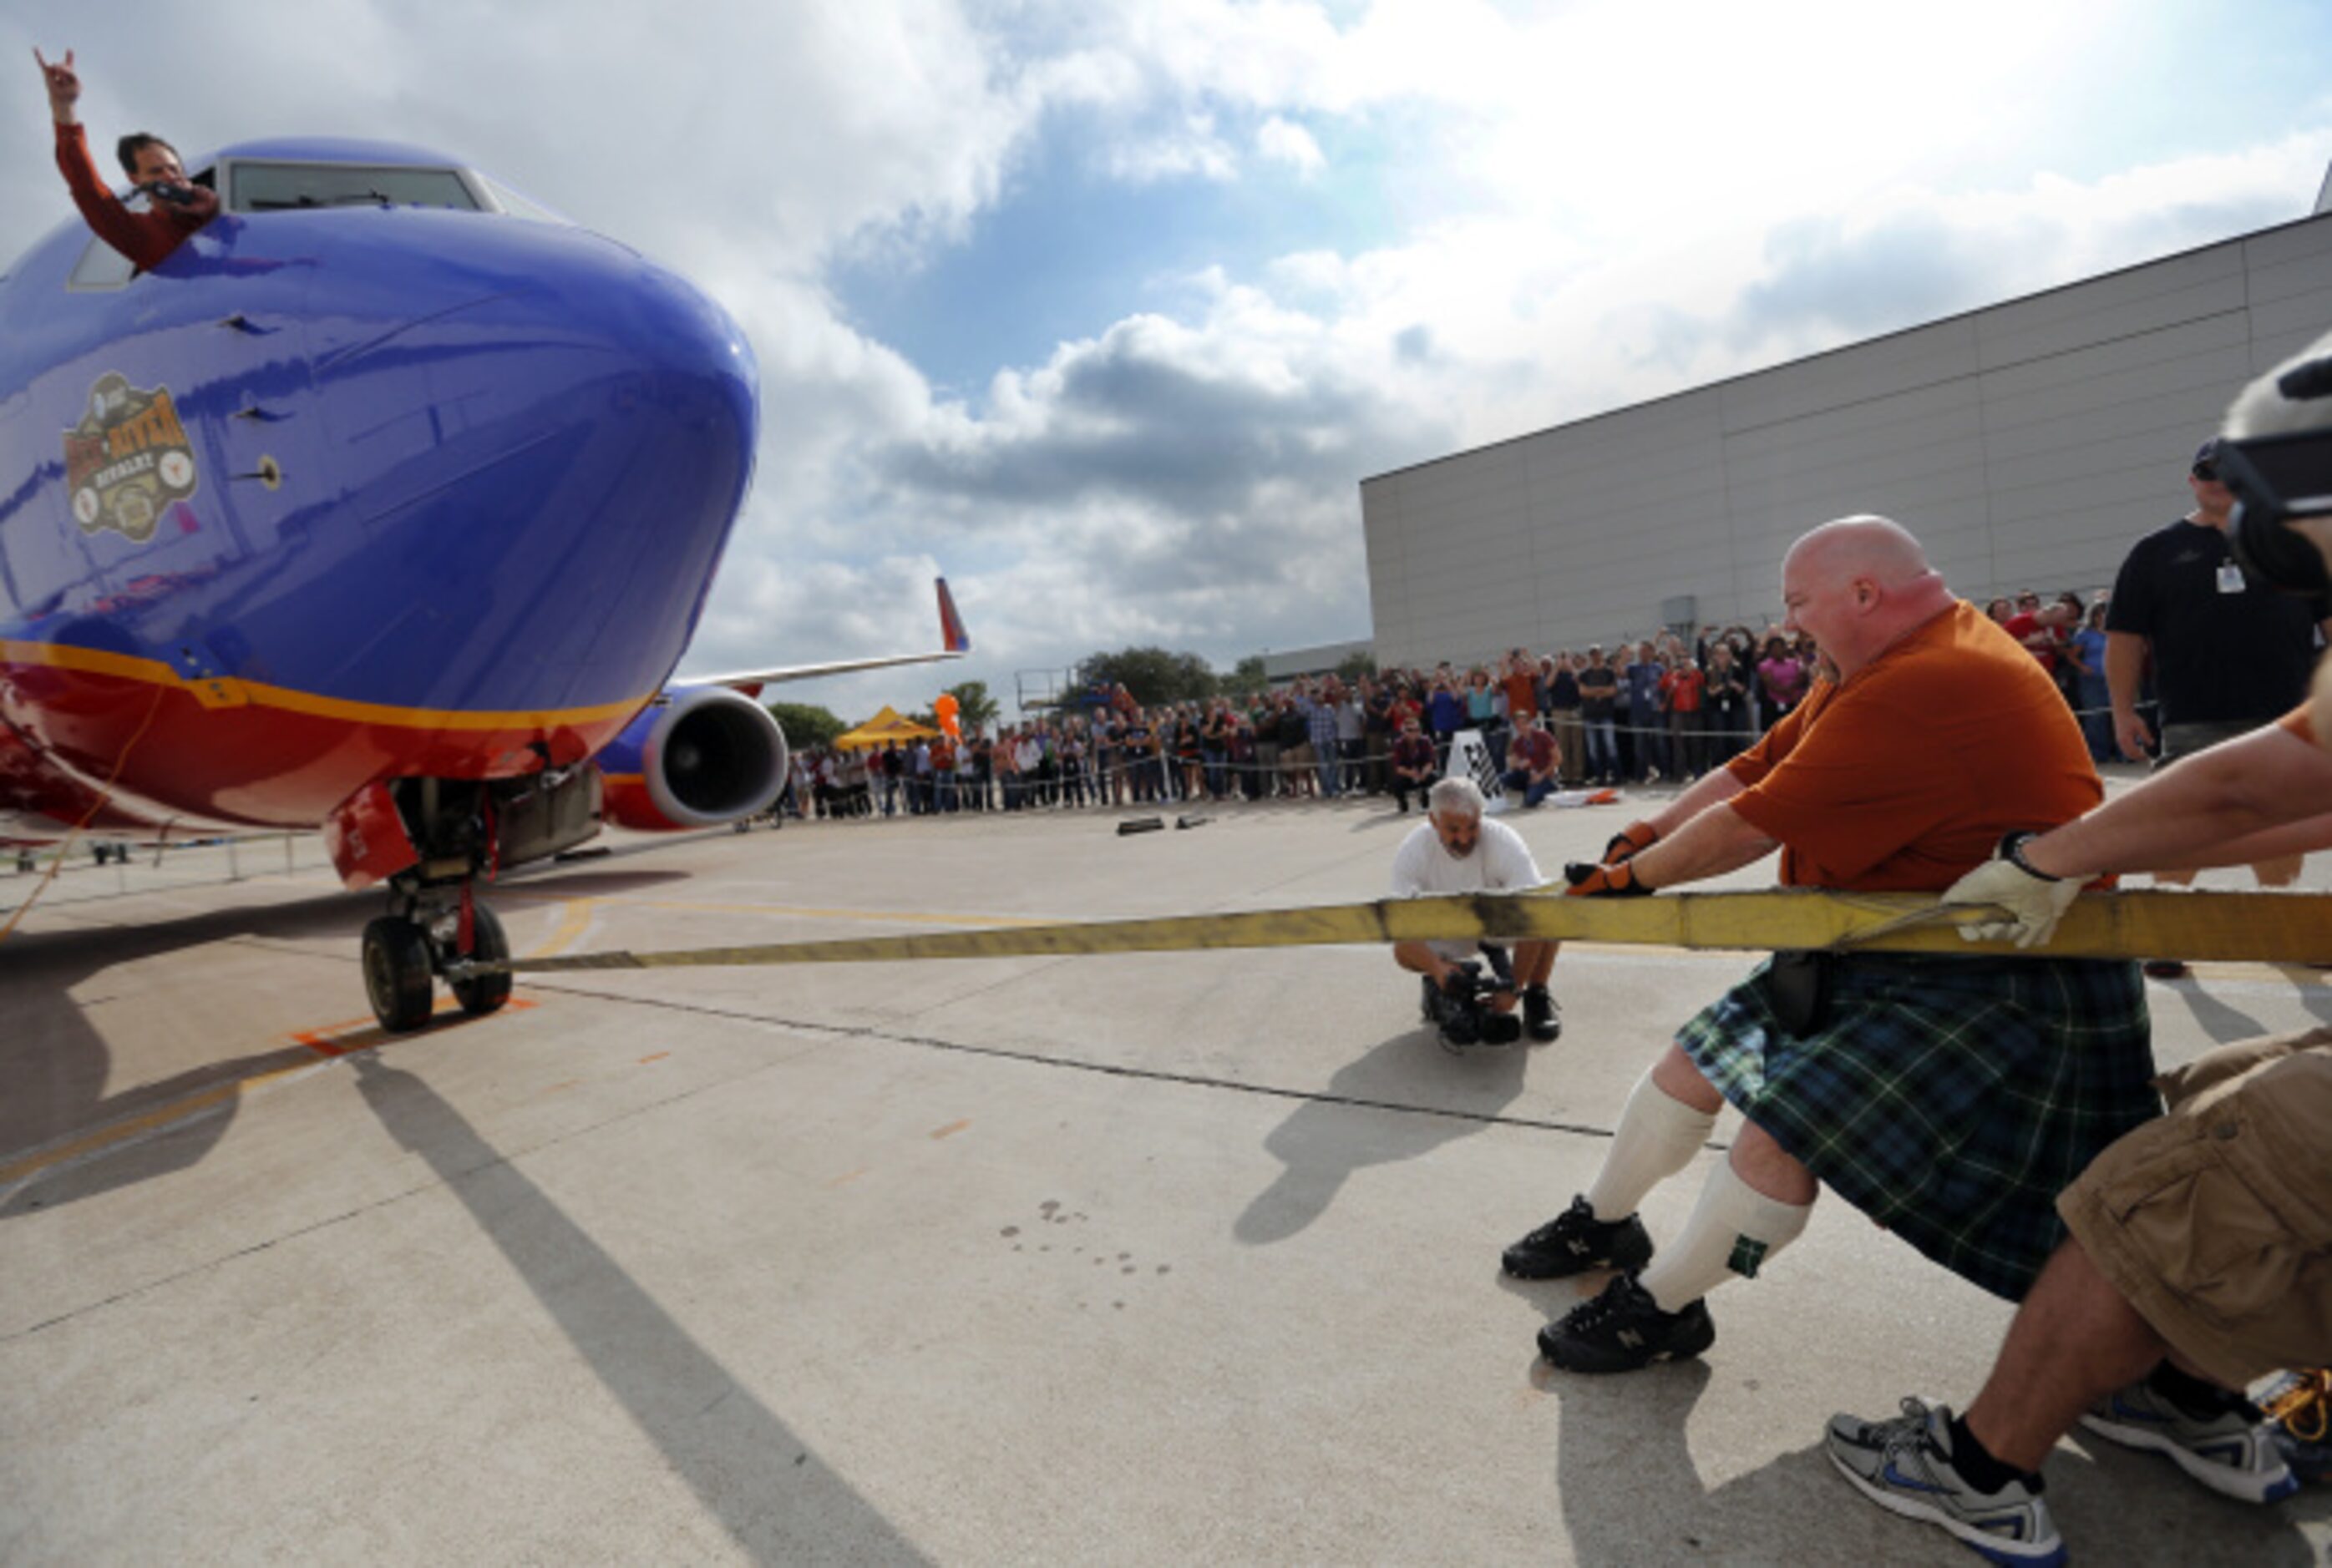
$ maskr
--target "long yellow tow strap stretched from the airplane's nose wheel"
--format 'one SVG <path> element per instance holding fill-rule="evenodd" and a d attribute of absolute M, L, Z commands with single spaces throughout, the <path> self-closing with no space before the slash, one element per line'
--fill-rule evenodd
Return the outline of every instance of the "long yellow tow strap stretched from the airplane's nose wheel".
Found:
<path fill-rule="evenodd" d="M 2066 913 L 2045 948 L 1961 941 L 1954 918 L 1987 906 L 1943 906 L 1922 892 L 1663 892 L 1639 899 L 1572 899 L 1546 892 L 1451 895 L 1168 916 L 1075 920 L 975 932 L 914 932 L 840 941 L 779 941 L 686 953 L 578 953 L 452 965 L 471 974 L 576 969 L 695 969 L 739 965 L 868 965 L 914 958 L 1038 958 L 1068 953 L 1206 953 L 1385 941 L 1607 941 L 1663 948 L 1856 948 L 2003 958 L 2185 958 L 2250 962 L 2332 960 L 2332 895 L 2313 892 L 2092 892 Z"/>

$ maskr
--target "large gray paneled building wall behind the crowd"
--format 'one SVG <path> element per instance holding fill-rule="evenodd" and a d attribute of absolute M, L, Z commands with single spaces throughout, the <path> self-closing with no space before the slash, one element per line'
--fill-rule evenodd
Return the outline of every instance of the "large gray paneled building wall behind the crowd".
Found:
<path fill-rule="evenodd" d="M 1385 664 L 1779 615 L 1782 552 L 1884 513 L 1968 599 L 2096 587 L 2183 515 L 2234 391 L 2332 329 L 2332 214 L 1362 480 Z"/>

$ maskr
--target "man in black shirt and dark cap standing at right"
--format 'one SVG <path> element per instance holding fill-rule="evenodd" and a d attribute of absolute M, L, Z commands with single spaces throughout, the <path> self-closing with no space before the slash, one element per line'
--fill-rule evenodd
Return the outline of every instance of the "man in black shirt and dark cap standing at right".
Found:
<path fill-rule="evenodd" d="M 2138 715 L 2138 685 L 2152 655 L 2162 736 L 2155 767 L 2169 767 L 2288 713 L 2309 687 L 2316 636 L 2332 636 L 2332 603 L 2295 599 L 2253 582 L 2234 561 L 2227 515 L 2234 496 L 2218 478 L 2218 440 L 2201 443 L 2187 468 L 2194 510 L 2141 538 L 2122 559 L 2106 610 L 2106 687 L 2113 734 L 2129 760 L 2143 760 L 2157 736 Z M 2299 876 L 2299 857 L 2253 867 L 2264 888 Z M 2192 881 L 2192 871 L 2157 871 L 2157 883 Z M 2178 960 L 2145 972 L 2173 979 Z"/>

